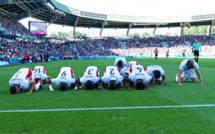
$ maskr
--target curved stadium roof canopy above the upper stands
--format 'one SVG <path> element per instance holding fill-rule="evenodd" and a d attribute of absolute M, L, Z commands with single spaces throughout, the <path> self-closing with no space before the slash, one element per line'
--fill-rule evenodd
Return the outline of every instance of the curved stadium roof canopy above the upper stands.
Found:
<path fill-rule="evenodd" d="M 213 25 L 215 14 L 197 16 L 124 16 L 100 14 L 68 7 L 55 0 L 1 0 L 0 11 L 15 19 L 34 17 L 42 21 L 92 28 L 154 28 Z"/>

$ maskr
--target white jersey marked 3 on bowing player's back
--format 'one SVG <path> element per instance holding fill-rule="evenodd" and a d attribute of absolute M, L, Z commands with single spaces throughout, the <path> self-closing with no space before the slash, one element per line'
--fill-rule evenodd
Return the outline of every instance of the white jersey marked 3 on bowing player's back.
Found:
<path fill-rule="evenodd" d="M 80 78 L 80 82 L 87 84 L 87 81 L 92 81 L 93 84 L 96 84 L 99 79 L 99 69 L 96 66 L 88 66 L 84 70 L 84 76 Z"/>

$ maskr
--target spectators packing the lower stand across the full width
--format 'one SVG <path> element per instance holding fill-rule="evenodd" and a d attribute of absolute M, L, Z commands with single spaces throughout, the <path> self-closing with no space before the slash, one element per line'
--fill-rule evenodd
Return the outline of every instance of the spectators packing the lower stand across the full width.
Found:
<path fill-rule="evenodd" d="M 26 59 L 30 55 L 33 62 L 45 61 L 45 53 L 60 55 L 60 59 L 75 56 L 111 56 L 111 55 L 152 55 L 158 48 L 159 55 L 165 55 L 167 50 L 171 54 L 191 54 L 191 44 L 197 39 L 201 44 L 201 53 L 214 54 L 215 43 L 211 36 L 182 36 L 182 37 L 130 37 L 119 41 L 117 38 L 75 38 L 73 41 L 65 42 L 62 39 L 47 39 L 45 43 L 31 41 L 8 41 L 0 39 L 1 59 L 20 58 Z M 44 53 L 45 52 L 45 53 Z M 28 59 L 28 58 L 27 58 Z M 35 60 L 33 60 L 35 59 Z"/>

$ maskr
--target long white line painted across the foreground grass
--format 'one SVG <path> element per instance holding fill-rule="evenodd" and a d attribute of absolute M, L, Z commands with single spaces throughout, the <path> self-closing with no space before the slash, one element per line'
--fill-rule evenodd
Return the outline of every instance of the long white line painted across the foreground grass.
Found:
<path fill-rule="evenodd" d="M 89 111 L 89 110 L 117 110 L 117 109 L 191 108 L 191 107 L 215 107 L 215 104 L 175 105 L 175 106 L 172 105 L 172 106 L 136 106 L 136 107 L 68 108 L 68 109 L 0 110 L 0 113 L 50 112 L 50 111 Z"/>

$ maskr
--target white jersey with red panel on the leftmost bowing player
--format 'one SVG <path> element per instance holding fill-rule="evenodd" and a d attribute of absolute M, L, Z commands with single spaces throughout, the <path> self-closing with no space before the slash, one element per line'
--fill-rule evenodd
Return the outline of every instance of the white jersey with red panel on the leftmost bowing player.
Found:
<path fill-rule="evenodd" d="M 33 79 L 33 71 L 29 68 L 22 68 L 9 80 L 9 85 L 18 85 L 20 89 L 24 90 L 30 86 L 29 80 Z"/>

